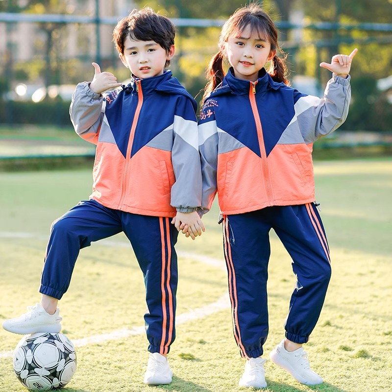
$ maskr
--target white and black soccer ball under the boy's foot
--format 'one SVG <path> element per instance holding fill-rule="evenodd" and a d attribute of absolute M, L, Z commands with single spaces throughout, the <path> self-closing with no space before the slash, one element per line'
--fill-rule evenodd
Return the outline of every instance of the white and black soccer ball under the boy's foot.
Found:
<path fill-rule="evenodd" d="M 61 333 L 25 335 L 14 350 L 14 372 L 33 391 L 62 388 L 76 370 L 73 343 Z"/>

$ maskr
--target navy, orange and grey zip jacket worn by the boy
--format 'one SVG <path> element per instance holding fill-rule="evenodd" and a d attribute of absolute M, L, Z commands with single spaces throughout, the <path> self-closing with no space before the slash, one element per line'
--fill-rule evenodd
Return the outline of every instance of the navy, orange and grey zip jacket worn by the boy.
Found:
<path fill-rule="evenodd" d="M 171 71 L 103 98 L 79 83 L 76 133 L 97 145 L 90 198 L 133 214 L 174 217 L 201 205 L 196 101 Z"/>

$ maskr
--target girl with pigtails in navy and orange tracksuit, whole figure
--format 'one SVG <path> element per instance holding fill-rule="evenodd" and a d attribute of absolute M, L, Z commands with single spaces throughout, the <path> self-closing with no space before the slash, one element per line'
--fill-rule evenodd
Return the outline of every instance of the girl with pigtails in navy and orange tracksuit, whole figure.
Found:
<path fill-rule="evenodd" d="M 201 214 L 218 193 L 234 336 L 247 360 L 239 385 L 249 388 L 267 386 L 261 356 L 268 334 L 270 229 L 290 253 L 297 279 L 285 339 L 270 359 L 303 384 L 322 383 L 302 347 L 319 318 L 331 275 L 316 208 L 312 146 L 346 119 L 348 73 L 357 51 L 320 64 L 333 76 L 324 98 L 317 98 L 288 87 L 278 49 L 270 16 L 257 4 L 238 9 L 223 25 L 220 50 L 208 66 L 199 120 Z"/>

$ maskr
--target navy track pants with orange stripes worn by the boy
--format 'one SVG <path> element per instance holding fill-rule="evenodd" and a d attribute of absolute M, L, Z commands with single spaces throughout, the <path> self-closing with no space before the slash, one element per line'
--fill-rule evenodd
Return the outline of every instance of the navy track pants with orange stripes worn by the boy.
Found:
<path fill-rule="evenodd" d="M 123 231 L 144 275 L 148 351 L 167 354 L 175 338 L 177 289 L 178 232 L 171 220 L 113 210 L 95 200 L 81 201 L 52 224 L 40 293 L 60 299 L 70 285 L 79 250 Z"/>

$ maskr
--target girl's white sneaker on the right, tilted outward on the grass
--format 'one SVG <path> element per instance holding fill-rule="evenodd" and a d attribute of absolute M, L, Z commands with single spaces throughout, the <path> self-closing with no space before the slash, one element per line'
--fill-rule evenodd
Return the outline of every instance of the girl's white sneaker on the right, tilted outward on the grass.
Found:
<path fill-rule="evenodd" d="M 271 352 L 270 359 L 276 365 L 288 371 L 295 380 L 305 385 L 322 384 L 322 378 L 310 368 L 308 354 L 303 347 L 295 351 L 285 349 L 285 339 Z"/>

